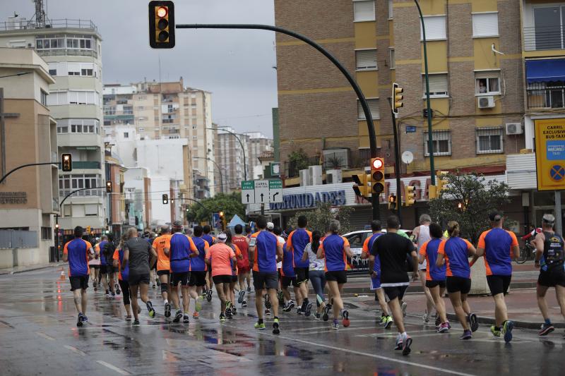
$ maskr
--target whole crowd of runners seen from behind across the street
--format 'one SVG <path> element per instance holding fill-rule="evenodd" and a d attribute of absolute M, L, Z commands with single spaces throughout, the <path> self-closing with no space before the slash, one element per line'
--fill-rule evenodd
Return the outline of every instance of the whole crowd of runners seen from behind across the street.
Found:
<path fill-rule="evenodd" d="M 437 332 L 451 329 L 442 298 L 447 290 L 463 327 L 460 339 L 471 339 L 478 323 L 467 299 L 471 286 L 470 267 L 482 256 L 495 303 L 496 324 L 491 327 L 491 332 L 511 341 L 513 322 L 507 317 L 504 296 L 511 281 L 512 255 L 519 253 L 518 241 L 511 231 L 502 228 L 502 213 L 489 213 L 489 222 L 492 229 L 481 234 L 477 248 L 460 238 L 457 222 L 448 222 L 444 233 L 441 226 L 432 223 L 426 214 L 420 218 L 420 226 L 413 232 L 412 240 L 398 231 L 400 223 L 396 216 L 386 220 L 386 232 L 381 230 L 381 222 L 371 222 L 373 234 L 363 245 L 362 257 L 369 259 L 371 286 L 376 289 L 381 306 L 380 325 L 388 329 L 394 322 L 398 330 L 395 348 L 403 355 L 410 353 L 412 344 L 403 322 L 407 305 L 404 296 L 410 284 L 407 267 L 413 280 L 420 278 L 424 281 L 428 299 L 424 322 L 429 323 L 432 310 L 435 310 Z M 543 231 L 533 240 L 537 249 L 535 265 L 541 268 L 537 300 L 545 319 L 540 335 L 549 334 L 554 329 L 545 303 L 545 293 L 550 286 L 556 288 L 565 317 L 564 241 L 553 232 L 553 223 L 553 216 L 546 214 Z M 352 251 L 347 238 L 340 236 L 340 223 L 332 221 L 323 234 L 317 230 L 309 231 L 304 216 L 298 218 L 297 228 L 292 231 L 282 231 L 265 217 L 259 217 L 256 225 L 258 231 L 253 234 L 249 228 L 237 225 L 234 235 L 227 232 L 213 237 L 209 226 L 194 226 L 188 236 L 184 234 L 184 226 L 174 222 L 170 228 L 162 226 L 160 236 L 153 239 L 140 238 L 138 231 L 132 228 L 121 236 L 117 245 L 102 237 L 95 248 L 83 240 L 83 229 L 76 227 L 75 239 L 64 246 L 64 260 L 69 260 L 77 325 L 81 327 L 88 321 L 85 311 L 89 264 L 92 260 L 100 260 L 100 265 L 106 265 L 108 277 L 104 286 L 107 293 L 114 293 L 113 272 L 118 271 L 126 320 L 132 320 L 133 315 L 134 326 L 139 325 L 141 313 L 138 296 L 145 303 L 148 315 L 155 317 L 155 308 L 148 297 L 151 269 L 155 267 L 164 315 L 172 317 L 172 322 L 190 322 L 192 301 L 192 317 L 198 318 L 202 301 L 211 301 L 213 286 L 220 300 L 218 317 L 220 322 L 225 322 L 237 313 L 237 304 L 246 307 L 246 293 L 251 292 L 251 272 L 258 316 L 256 329 L 266 329 L 265 317 L 272 314 L 273 334 L 279 334 L 280 310 L 288 313 L 297 308 L 297 315 L 310 316 L 313 303 L 309 301 L 308 281 L 315 294 L 314 318 L 323 321 L 331 318 L 333 329 L 338 329 L 340 322 L 343 327 L 348 327 L 350 313 L 344 307 L 341 293 L 347 283 L 347 260 L 352 257 Z M 472 257 L 471 261 L 469 257 Z M 94 277 L 93 281 L 99 279 Z M 290 286 L 295 300 L 291 299 Z M 239 288 L 237 304 L 236 287 Z"/>

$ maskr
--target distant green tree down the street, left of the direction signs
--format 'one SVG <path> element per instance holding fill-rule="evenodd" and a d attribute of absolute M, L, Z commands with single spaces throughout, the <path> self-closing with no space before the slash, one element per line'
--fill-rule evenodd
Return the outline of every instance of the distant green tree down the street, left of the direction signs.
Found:
<path fill-rule="evenodd" d="M 194 202 L 190 206 L 186 219 L 194 222 L 209 222 L 212 213 L 218 212 L 224 212 L 227 222 L 230 222 L 235 214 L 245 218 L 245 207 L 242 204 L 242 194 L 239 192 L 216 193 L 213 198 L 205 198 L 200 202 L 202 205 Z"/>

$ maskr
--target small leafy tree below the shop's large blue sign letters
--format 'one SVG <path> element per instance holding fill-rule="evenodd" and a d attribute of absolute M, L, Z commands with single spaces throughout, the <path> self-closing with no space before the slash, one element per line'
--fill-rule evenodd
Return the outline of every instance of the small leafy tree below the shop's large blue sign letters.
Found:
<path fill-rule="evenodd" d="M 308 219 L 308 228 L 311 230 L 319 230 L 323 234 L 333 219 L 338 219 L 341 224 L 341 234 L 351 231 L 350 217 L 353 212 L 352 207 L 332 207 L 329 202 L 318 202 L 316 209 L 307 212 L 297 212 L 290 219 L 288 225 L 293 229 L 297 227 L 298 217 L 304 215 Z"/>

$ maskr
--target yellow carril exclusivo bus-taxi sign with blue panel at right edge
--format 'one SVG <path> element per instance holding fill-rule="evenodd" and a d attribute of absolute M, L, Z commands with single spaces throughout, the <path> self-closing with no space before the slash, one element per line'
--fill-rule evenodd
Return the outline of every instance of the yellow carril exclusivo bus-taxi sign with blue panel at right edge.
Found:
<path fill-rule="evenodd" d="M 565 119 L 540 119 L 535 126 L 537 190 L 565 189 Z"/>

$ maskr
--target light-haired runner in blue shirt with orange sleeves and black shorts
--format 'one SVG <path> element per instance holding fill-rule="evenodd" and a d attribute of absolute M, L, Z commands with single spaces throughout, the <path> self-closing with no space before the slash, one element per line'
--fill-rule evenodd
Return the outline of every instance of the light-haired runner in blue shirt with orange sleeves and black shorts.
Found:
<path fill-rule="evenodd" d="M 471 312 L 467 301 L 467 294 L 471 290 L 471 269 L 469 267 L 469 256 L 477 252 L 472 244 L 459 237 L 459 224 L 451 221 L 447 224 L 449 238 L 442 241 L 437 250 L 436 265 L 446 265 L 446 286 L 449 300 L 457 315 L 463 336 L 459 339 L 471 339 L 471 332 L 479 328 L 477 315 Z M 470 323 L 470 328 L 468 322 Z"/>

